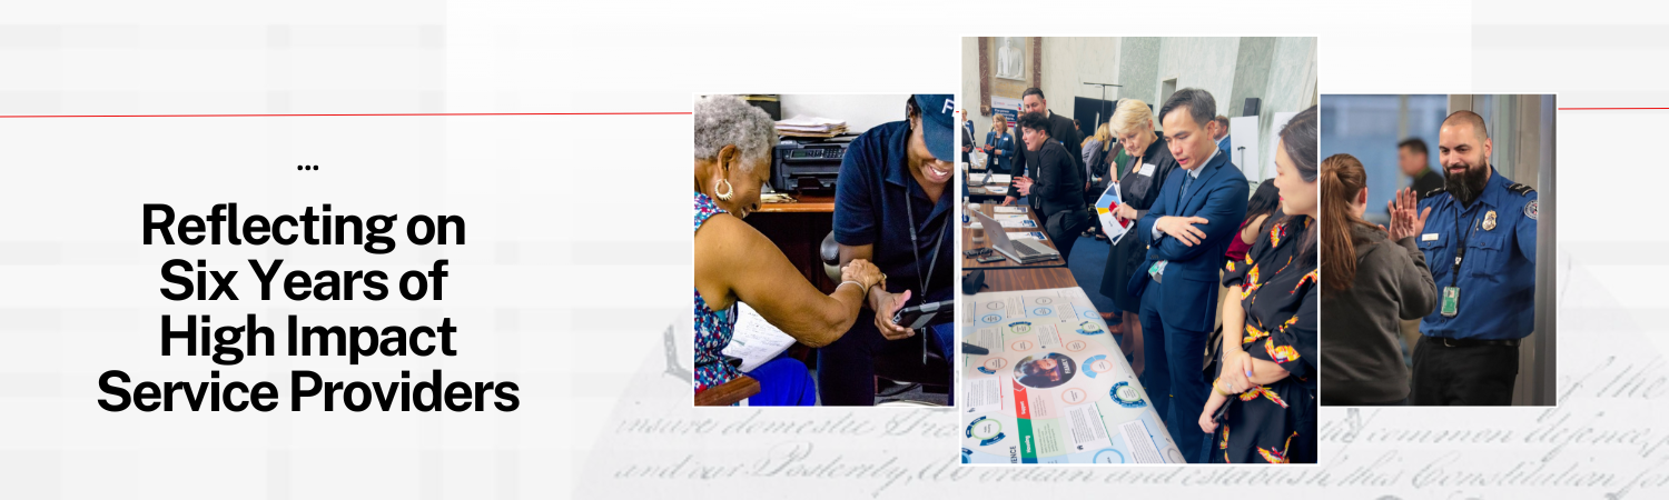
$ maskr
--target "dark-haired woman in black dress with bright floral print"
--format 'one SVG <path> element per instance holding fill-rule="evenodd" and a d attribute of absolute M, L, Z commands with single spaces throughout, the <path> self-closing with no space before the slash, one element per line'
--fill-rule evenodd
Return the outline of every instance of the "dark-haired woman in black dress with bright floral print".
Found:
<path fill-rule="evenodd" d="M 1220 373 L 1200 413 L 1212 462 L 1315 463 L 1315 107 L 1280 130 L 1275 188 L 1287 217 L 1223 272 Z"/>

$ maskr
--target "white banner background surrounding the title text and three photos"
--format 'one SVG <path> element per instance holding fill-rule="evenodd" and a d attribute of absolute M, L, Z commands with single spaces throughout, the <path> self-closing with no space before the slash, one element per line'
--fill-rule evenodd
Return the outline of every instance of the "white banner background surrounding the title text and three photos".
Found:
<path fill-rule="evenodd" d="M 1596 2 L 37 2 L 0 27 L 0 115 L 684 112 L 691 93 L 955 92 L 958 38 L 1315 35 L 1324 93 L 1557 92 L 1662 107 L 1661 7 Z M 955 415 L 693 410 L 688 117 L 0 118 L 7 498 L 1659 498 L 1664 112 L 1559 117 L 1561 408 L 1329 410 L 1324 463 L 958 468 Z M 297 172 L 295 165 L 320 165 Z M 467 245 L 144 247 L 182 213 L 457 213 Z M 452 260 L 439 303 L 160 298 L 167 258 L 307 270 Z M 240 273 L 242 287 L 252 287 Z M 240 295 L 252 297 L 250 288 Z M 160 357 L 162 313 L 451 317 L 456 358 Z M 686 355 L 681 355 L 688 358 Z M 107 413 L 140 380 L 514 380 L 514 413 Z M 287 383 L 280 383 L 287 385 Z M 287 387 L 285 387 L 287 390 Z M 1495 430 L 1505 442 L 1455 438 Z M 1445 433 L 1447 432 L 1447 433 Z M 1559 440 L 1551 432 L 1562 432 Z M 1574 440 L 1571 440 L 1576 437 Z M 1602 442 L 1596 442 L 1606 438 Z M 1527 463 L 1527 465 L 1525 465 Z M 1587 485 L 1514 478 L 1576 470 Z M 1477 475 L 1474 475 L 1477 473 Z M 1642 485 L 1644 483 L 1644 485 Z"/>

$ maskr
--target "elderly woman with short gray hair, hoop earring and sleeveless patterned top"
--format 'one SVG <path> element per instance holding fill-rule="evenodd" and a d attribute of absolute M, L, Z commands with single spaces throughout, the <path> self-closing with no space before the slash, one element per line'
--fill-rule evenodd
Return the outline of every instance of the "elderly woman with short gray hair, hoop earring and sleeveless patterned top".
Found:
<path fill-rule="evenodd" d="M 868 260 L 841 268 L 834 293 L 823 295 L 783 250 L 741 222 L 759 208 L 771 177 L 771 117 L 736 97 L 696 100 L 696 393 L 739 375 L 759 382 L 749 405 L 813 405 L 816 385 L 799 360 L 779 357 L 753 372 L 724 362 L 744 302 L 794 340 L 823 347 L 851 328 L 881 270 Z"/>

